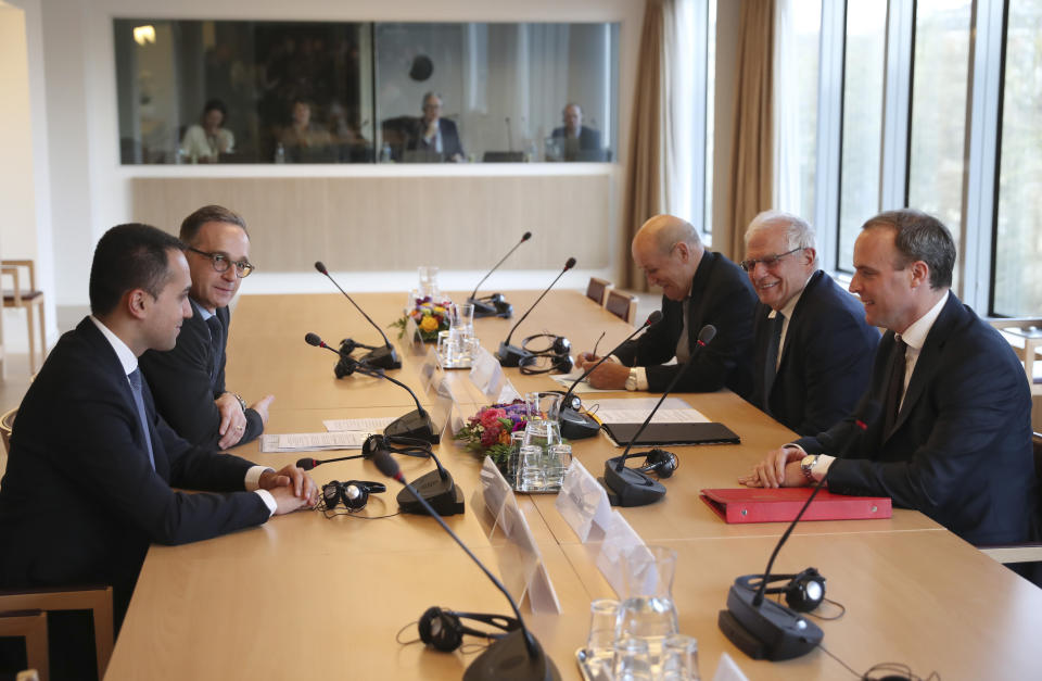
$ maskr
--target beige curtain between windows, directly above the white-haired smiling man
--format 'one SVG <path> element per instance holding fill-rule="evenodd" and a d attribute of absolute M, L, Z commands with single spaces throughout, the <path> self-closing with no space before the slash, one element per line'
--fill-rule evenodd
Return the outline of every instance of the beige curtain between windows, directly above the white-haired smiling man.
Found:
<path fill-rule="evenodd" d="M 727 191 L 729 243 L 717 250 L 734 260 L 745 253 L 742 235 L 757 213 L 771 207 L 773 187 L 772 72 L 775 0 L 742 0 L 738 25 L 735 134 Z M 729 247 L 730 253 L 727 253 Z"/>

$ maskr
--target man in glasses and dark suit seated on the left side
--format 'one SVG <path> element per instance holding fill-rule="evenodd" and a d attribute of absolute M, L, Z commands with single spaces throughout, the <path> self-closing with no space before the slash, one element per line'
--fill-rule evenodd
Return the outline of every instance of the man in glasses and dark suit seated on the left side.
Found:
<path fill-rule="evenodd" d="M 141 355 L 160 416 L 189 442 L 227 450 L 256 439 L 268 423 L 267 395 L 246 406 L 225 389 L 225 350 L 231 320 L 228 304 L 252 270 L 246 224 L 219 205 L 206 205 L 181 223 L 181 241 L 192 274 L 189 302 L 177 345 Z"/>

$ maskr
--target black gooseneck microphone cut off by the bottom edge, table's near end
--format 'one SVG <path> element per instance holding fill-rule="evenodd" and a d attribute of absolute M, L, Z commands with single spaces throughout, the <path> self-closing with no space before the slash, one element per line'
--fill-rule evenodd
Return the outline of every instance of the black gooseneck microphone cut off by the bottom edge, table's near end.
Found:
<path fill-rule="evenodd" d="M 511 680 L 511 679 L 538 679 L 541 681 L 558 681 L 561 678 L 560 672 L 557 670 L 557 667 L 554 665 L 554 660 L 546 656 L 543 652 L 539 642 L 536 641 L 535 636 L 532 635 L 532 632 L 529 631 L 528 627 L 524 625 L 524 618 L 521 617 L 521 610 L 518 608 L 518 604 L 510 596 L 510 592 L 507 591 L 507 588 L 503 585 L 495 575 L 492 573 L 484 564 L 478 559 L 478 556 L 467 547 L 467 544 L 459 539 L 459 537 L 453 532 L 453 530 L 445 524 L 445 520 L 437 514 L 430 504 L 427 503 L 427 500 L 423 499 L 421 494 L 418 494 L 416 490 L 412 490 L 412 485 L 406 482 L 405 476 L 402 475 L 402 470 L 398 468 L 397 462 L 391 457 L 386 451 L 379 451 L 372 457 L 373 463 L 377 465 L 377 468 L 389 478 L 397 480 L 405 487 L 406 490 L 409 490 L 412 495 L 419 500 L 419 502 L 424 506 L 427 513 L 434 518 L 442 529 L 448 533 L 453 540 L 459 544 L 459 547 L 463 550 L 471 560 L 474 562 L 481 571 L 485 573 L 485 577 L 496 585 L 496 589 L 506 596 L 507 602 L 510 603 L 510 607 L 513 608 L 513 616 L 517 618 L 518 623 L 521 626 L 520 629 L 516 629 L 505 635 L 504 638 L 497 640 L 495 643 L 490 645 L 484 653 L 479 655 L 473 663 L 467 668 L 467 671 L 463 672 L 465 681 L 478 681 L 478 680 Z"/>

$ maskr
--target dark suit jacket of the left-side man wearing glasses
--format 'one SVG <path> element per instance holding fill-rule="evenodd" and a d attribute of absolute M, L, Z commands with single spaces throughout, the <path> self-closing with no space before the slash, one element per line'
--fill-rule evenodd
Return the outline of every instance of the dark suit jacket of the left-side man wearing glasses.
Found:
<path fill-rule="evenodd" d="M 214 349 L 209 342 L 209 327 L 199 314 L 194 301 L 192 311 L 191 318 L 181 325 L 174 350 L 149 350 L 139 362 L 149 379 L 160 416 L 189 442 L 217 449 L 220 412 L 214 400 L 225 392 L 225 348 L 231 317 L 227 307 L 217 308 L 217 319 L 225 329 L 225 343 L 217 357 L 217 376 L 212 377 Z M 263 431 L 260 415 L 246 409 L 246 429 L 239 444 L 256 439 Z"/>

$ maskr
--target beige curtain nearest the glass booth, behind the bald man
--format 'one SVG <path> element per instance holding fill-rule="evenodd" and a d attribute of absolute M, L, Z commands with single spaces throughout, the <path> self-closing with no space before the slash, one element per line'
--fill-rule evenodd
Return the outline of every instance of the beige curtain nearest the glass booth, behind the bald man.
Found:
<path fill-rule="evenodd" d="M 620 285 L 636 291 L 646 291 L 648 285 L 644 274 L 633 264 L 630 242 L 645 220 L 663 213 L 669 205 L 666 168 L 672 135 L 666 84 L 670 81 L 668 54 L 673 42 L 670 21 L 673 1 L 648 0 L 637 59 L 619 261 L 625 263 Z"/>

